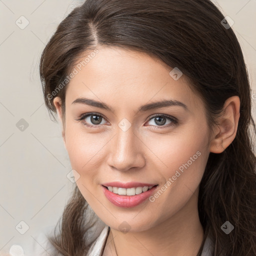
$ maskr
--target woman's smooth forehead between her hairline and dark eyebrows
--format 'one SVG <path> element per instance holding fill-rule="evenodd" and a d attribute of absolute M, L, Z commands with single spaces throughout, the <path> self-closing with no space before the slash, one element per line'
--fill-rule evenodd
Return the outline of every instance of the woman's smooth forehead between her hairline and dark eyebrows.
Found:
<path fill-rule="evenodd" d="M 186 77 L 182 74 L 175 80 L 173 67 L 156 57 L 119 47 L 97 50 L 86 51 L 74 65 L 76 74 L 67 86 L 67 104 L 82 96 L 115 107 L 171 98 L 190 106 L 198 104 Z"/>

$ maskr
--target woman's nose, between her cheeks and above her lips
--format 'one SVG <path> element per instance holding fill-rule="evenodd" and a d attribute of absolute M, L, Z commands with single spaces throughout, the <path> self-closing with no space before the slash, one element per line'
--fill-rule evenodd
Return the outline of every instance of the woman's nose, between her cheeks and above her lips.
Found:
<path fill-rule="evenodd" d="M 145 164 L 143 148 L 145 145 L 141 138 L 134 133 L 132 126 L 126 131 L 117 128 L 116 135 L 111 139 L 107 163 L 120 171 L 141 168 Z"/>

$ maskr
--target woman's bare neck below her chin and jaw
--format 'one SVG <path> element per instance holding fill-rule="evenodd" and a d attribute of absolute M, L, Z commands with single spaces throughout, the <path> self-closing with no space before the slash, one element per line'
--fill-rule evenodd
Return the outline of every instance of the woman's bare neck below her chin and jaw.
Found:
<path fill-rule="evenodd" d="M 147 230 L 123 233 L 110 228 L 103 255 L 196 256 L 202 243 L 203 228 L 198 216 L 197 196 L 194 195 L 177 213 Z"/>

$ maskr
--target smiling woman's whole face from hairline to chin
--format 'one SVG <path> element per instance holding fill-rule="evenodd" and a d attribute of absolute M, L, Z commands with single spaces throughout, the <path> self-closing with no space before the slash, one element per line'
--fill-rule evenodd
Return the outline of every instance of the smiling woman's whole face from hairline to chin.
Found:
<path fill-rule="evenodd" d="M 174 214 L 197 212 L 210 141 L 202 101 L 184 75 L 144 53 L 100 47 L 90 56 L 75 66 L 67 87 L 63 137 L 86 201 L 117 230 L 147 230 Z M 169 103 L 153 105 L 163 100 Z M 111 182 L 134 187 L 115 192 L 137 195 L 102 185 Z M 157 186 L 141 193 L 146 184 Z"/>

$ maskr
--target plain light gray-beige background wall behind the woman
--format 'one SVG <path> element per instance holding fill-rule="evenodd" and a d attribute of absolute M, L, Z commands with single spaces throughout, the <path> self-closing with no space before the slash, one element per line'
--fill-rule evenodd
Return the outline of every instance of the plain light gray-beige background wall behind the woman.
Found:
<path fill-rule="evenodd" d="M 71 166 L 60 124 L 44 106 L 38 63 L 58 23 L 81 2 L 0 0 L 0 251 L 54 226 L 74 185 L 66 177 Z M 256 93 L 256 1 L 214 2 L 234 20 Z M 15 23 L 21 15 L 29 21 L 24 29 Z M 16 126 L 21 118 L 28 123 L 23 131 Z M 29 226 L 24 234 L 17 231 L 25 228 L 20 221 Z"/>

